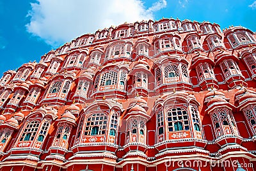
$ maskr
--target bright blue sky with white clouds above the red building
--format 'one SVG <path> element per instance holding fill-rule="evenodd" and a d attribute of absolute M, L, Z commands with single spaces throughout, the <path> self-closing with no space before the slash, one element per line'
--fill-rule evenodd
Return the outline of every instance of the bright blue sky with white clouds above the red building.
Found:
<path fill-rule="evenodd" d="M 256 31 L 256 1 L 0 0 L 0 77 L 85 33 L 136 20 L 209 20 Z"/>

